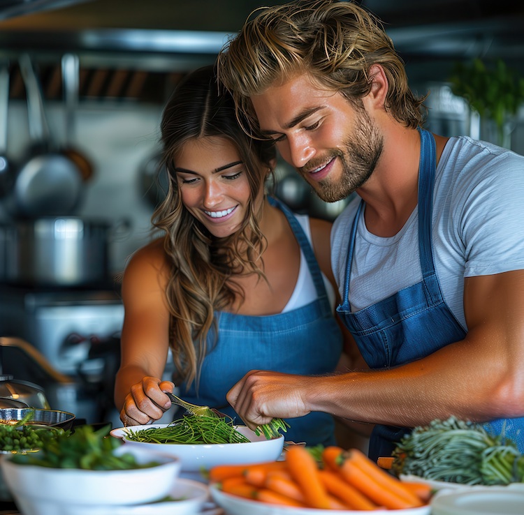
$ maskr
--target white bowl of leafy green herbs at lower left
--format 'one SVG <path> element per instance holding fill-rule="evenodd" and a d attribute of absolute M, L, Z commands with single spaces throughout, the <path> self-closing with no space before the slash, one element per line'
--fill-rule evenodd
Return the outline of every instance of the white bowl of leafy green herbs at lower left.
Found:
<path fill-rule="evenodd" d="M 175 456 L 153 454 L 125 445 L 115 454 L 129 452 L 138 463 L 159 465 L 131 470 L 47 468 L 1 461 L 3 478 L 24 515 L 61 515 L 64 505 L 136 505 L 169 495 L 180 474 Z"/>

